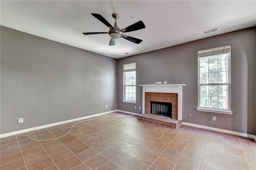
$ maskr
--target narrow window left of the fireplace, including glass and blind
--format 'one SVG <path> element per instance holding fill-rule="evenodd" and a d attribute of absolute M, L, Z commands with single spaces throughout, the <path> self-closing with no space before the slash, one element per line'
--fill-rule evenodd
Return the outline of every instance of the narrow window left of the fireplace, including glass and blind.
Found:
<path fill-rule="evenodd" d="M 136 103 L 136 63 L 124 64 L 124 100 Z"/>

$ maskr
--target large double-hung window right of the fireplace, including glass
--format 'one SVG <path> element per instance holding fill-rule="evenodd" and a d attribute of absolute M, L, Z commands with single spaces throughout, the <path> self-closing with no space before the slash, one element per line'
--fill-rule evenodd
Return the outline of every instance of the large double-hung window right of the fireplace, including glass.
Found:
<path fill-rule="evenodd" d="M 230 111 L 230 46 L 198 51 L 198 111 Z"/>

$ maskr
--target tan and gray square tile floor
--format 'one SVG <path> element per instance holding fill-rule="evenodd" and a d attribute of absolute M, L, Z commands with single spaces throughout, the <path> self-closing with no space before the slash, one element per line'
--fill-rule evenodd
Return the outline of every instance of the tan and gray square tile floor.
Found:
<path fill-rule="evenodd" d="M 255 170 L 256 143 L 231 134 L 177 129 L 110 113 L 85 119 L 55 140 L 27 136 L 0 139 L 1 170 Z M 49 139 L 76 122 L 27 132 Z"/>

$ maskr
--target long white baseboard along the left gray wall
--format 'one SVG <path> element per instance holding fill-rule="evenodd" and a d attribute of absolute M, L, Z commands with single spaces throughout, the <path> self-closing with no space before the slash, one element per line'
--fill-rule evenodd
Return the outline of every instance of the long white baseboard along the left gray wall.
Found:
<path fill-rule="evenodd" d="M 108 113 L 113 113 L 113 112 L 116 112 L 116 111 L 118 111 L 118 110 L 108 111 L 108 112 L 104 112 L 104 113 L 98 113 L 98 114 L 96 114 L 96 115 L 90 115 L 90 116 L 85 116 L 85 117 L 79 117 L 79 118 L 71 119 L 71 120 L 68 120 L 68 121 L 62 121 L 62 122 L 52 123 L 52 124 L 43 125 L 43 126 L 39 126 L 39 127 L 27 128 L 27 129 L 18 130 L 18 131 L 15 131 L 15 132 L 9 132 L 9 133 L 5 133 L 5 134 L 0 134 L 0 138 L 4 138 L 4 137 L 12 136 L 12 135 L 15 135 L 15 134 L 20 134 L 20 133 L 30 132 L 30 131 L 32 131 L 32 130 L 38 130 L 38 129 L 41 129 L 41 128 L 48 128 L 48 127 L 53 127 L 53 126 L 56 126 L 56 125 L 62 125 L 62 124 L 64 124 L 64 123 L 70 123 L 70 122 L 79 121 L 79 120 L 82 120 L 82 119 L 88 119 L 88 118 L 90 118 L 90 117 L 96 117 L 96 116 L 100 116 L 100 115 L 106 115 L 106 114 L 108 114 Z"/>

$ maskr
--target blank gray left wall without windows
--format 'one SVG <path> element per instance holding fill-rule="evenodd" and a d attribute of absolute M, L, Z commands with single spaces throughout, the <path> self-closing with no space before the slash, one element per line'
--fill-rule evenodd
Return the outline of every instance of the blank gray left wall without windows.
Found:
<path fill-rule="evenodd" d="M 116 59 L 0 31 L 1 134 L 117 109 Z"/>

